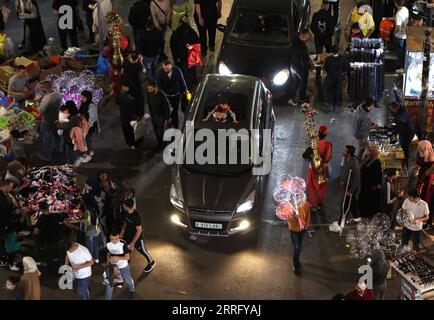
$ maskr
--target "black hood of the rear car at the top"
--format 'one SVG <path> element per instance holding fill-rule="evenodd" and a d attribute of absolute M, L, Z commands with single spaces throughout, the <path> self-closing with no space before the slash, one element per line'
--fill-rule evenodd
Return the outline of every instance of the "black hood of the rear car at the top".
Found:
<path fill-rule="evenodd" d="M 247 74 L 271 80 L 280 70 L 288 67 L 289 47 L 265 47 L 227 42 L 222 47 L 220 61 L 232 73 Z"/>

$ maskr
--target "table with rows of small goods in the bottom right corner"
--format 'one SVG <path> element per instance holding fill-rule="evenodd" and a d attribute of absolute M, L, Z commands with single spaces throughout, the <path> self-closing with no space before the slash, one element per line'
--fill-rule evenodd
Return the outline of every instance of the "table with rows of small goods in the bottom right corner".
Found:
<path fill-rule="evenodd" d="M 416 252 L 407 252 L 391 261 L 401 277 L 401 300 L 434 300 L 434 267 Z"/>

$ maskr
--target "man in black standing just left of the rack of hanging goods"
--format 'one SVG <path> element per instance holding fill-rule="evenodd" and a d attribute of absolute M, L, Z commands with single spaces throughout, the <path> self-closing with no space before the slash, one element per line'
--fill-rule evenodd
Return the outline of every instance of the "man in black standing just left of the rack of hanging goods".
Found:
<path fill-rule="evenodd" d="M 324 70 L 327 72 L 324 88 L 327 103 L 333 110 L 340 110 L 342 96 L 342 80 L 349 69 L 348 62 L 339 55 L 339 48 L 334 45 L 333 55 L 328 57 L 324 63 Z"/>

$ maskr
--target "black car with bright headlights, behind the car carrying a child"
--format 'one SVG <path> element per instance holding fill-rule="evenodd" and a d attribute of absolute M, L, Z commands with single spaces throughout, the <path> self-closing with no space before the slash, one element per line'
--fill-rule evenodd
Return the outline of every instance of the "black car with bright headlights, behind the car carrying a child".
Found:
<path fill-rule="evenodd" d="M 220 74 L 258 77 L 275 97 L 288 92 L 291 39 L 307 26 L 309 0 L 234 0 L 218 56 Z"/>

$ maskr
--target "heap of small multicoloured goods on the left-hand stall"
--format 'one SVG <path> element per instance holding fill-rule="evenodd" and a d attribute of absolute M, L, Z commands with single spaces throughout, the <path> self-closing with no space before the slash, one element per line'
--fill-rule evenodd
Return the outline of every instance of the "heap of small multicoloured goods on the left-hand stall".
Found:
<path fill-rule="evenodd" d="M 28 197 L 23 208 L 32 221 L 39 217 L 39 203 L 47 202 L 50 212 L 65 214 L 68 221 L 79 221 L 83 212 L 73 207 L 73 201 L 80 195 L 74 181 L 74 168 L 69 165 L 32 168 L 25 180 L 29 182 Z"/>

